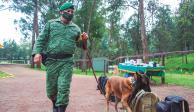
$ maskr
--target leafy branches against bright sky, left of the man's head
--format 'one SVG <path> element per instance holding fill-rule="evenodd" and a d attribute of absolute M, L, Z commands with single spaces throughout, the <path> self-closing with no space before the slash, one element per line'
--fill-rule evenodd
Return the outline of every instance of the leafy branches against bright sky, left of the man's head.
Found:
<path fill-rule="evenodd" d="M 38 13 L 40 15 L 39 29 L 43 28 L 44 24 L 56 17 L 59 17 L 59 6 L 64 2 L 64 0 L 13 0 L 11 4 L 11 9 L 16 12 L 21 12 L 25 14 L 20 20 L 15 20 L 15 24 L 19 24 L 21 32 L 24 38 L 30 38 L 33 31 L 33 18 L 34 11 L 36 8 L 35 3 L 38 2 Z M 38 17 L 39 18 L 39 17 Z"/>

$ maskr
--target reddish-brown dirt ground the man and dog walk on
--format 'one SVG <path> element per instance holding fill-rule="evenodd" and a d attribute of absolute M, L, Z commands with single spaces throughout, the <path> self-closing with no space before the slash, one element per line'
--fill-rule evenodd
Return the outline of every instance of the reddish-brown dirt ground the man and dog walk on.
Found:
<path fill-rule="evenodd" d="M 52 112 L 51 102 L 45 94 L 45 72 L 32 70 L 24 65 L 0 65 L 0 71 L 15 75 L 0 79 L 1 112 Z M 179 86 L 152 86 L 160 98 L 180 95 L 189 102 L 194 112 L 194 89 Z M 114 112 L 113 106 L 111 112 Z M 104 97 L 96 90 L 93 77 L 74 76 L 70 104 L 67 112 L 104 112 Z"/>

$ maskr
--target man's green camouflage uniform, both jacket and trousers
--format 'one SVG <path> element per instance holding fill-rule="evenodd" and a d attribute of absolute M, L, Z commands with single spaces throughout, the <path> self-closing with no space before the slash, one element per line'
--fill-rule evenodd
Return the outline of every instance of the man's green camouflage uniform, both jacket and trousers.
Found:
<path fill-rule="evenodd" d="M 74 23 L 63 24 L 60 20 L 49 21 L 38 37 L 33 54 L 46 52 L 46 90 L 56 106 L 69 102 L 70 84 L 73 71 L 73 56 L 55 59 L 49 55 L 74 54 L 75 48 L 82 46 L 79 41 L 80 28 Z"/>

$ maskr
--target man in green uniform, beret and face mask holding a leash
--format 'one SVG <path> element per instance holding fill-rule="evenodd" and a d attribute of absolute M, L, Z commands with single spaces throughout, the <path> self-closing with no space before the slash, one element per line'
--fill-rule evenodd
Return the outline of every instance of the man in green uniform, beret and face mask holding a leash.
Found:
<path fill-rule="evenodd" d="M 71 21 L 74 14 L 72 3 L 64 3 L 60 7 L 60 14 L 60 18 L 48 21 L 33 50 L 34 62 L 40 64 L 43 61 L 46 66 L 46 90 L 53 103 L 53 112 L 66 110 L 72 80 L 73 54 L 76 46 L 82 47 L 83 41 L 88 39 L 87 34 L 81 34 L 80 28 Z M 44 52 L 46 55 L 43 55 Z"/>

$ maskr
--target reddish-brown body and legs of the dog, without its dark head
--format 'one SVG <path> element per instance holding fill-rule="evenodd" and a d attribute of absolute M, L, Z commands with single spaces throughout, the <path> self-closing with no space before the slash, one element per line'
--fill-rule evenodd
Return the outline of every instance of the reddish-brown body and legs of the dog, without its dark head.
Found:
<path fill-rule="evenodd" d="M 127 112 L 132 112 L 129 105 L 128 99 L 132 94 L 132 78 L 124 78 L 120 76 L 111 76 L 106 83 L 106 112 L 109 111 L 109 98 L 113 94 L 115 96 L 115 110 L 118 112 L 117 105 L 119 102 L 122 103 L 123 108 Z"/>

